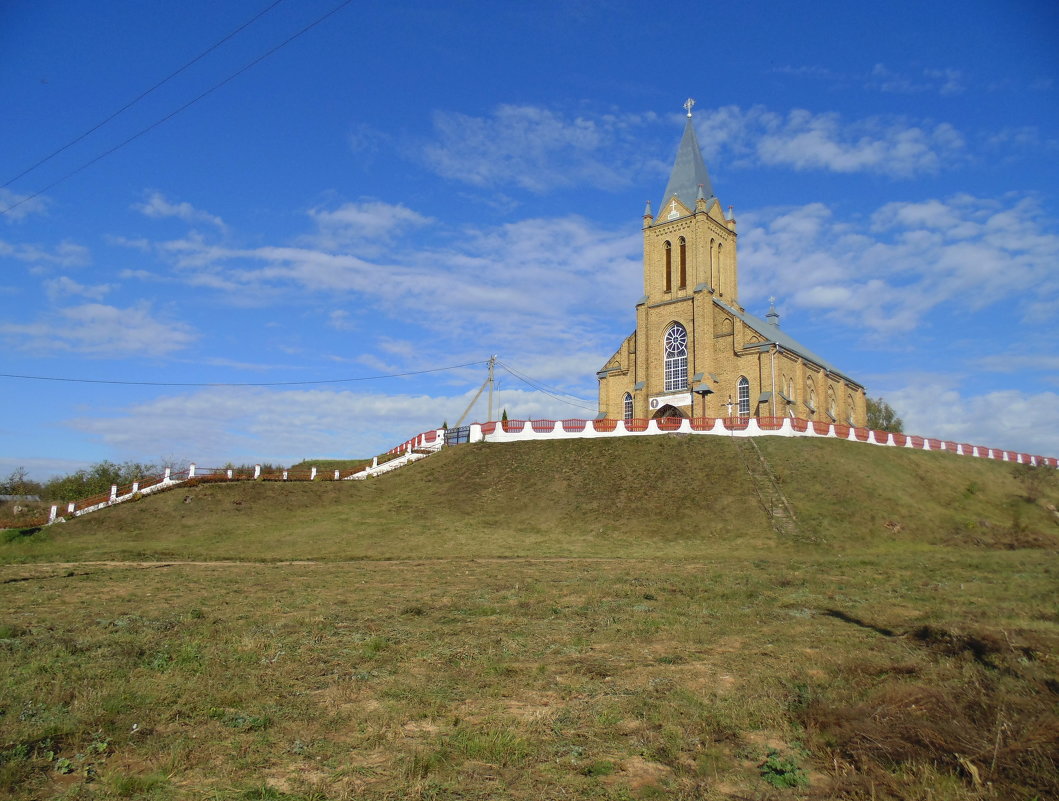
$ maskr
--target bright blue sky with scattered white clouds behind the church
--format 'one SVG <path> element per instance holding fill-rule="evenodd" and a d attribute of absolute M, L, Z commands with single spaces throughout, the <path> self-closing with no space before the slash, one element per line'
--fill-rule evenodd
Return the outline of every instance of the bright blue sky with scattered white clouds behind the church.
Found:
<path fill-rule="evenodd" d="M 749 312 L 911 433 L 1059 456 L 1057 40 L 1043 0 L 7 0 L 0 473 L 371 456 L 490 355 L 511 419 L 593 417 L 687 97 Z"/>

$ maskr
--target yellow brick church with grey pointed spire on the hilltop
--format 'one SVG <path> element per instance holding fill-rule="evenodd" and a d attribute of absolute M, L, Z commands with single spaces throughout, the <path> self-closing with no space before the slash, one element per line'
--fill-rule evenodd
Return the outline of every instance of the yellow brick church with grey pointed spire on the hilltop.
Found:
<path fill-rule="evenodd" d="M 656 216 L 644 211 L 636 330 L 596 373 L 599 416 L 801 417 L 864 426 L 864 387 L 739 303 L 736 222 L 714 195 L 692 124 Z"/>

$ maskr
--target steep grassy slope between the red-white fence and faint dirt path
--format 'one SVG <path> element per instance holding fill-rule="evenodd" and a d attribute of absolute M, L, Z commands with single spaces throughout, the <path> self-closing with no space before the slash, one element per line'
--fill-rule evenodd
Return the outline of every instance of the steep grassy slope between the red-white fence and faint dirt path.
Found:
<path fill-rule="evenodd" d="M 653 437 L 444 450 L 366 481 L 178 486 L 15 537 L 0 560 L 710 556 L 819 544 L 1054 547 L 1012 465 L 760 438 L 795 510 L 777 539 L 733 441 Z"/>

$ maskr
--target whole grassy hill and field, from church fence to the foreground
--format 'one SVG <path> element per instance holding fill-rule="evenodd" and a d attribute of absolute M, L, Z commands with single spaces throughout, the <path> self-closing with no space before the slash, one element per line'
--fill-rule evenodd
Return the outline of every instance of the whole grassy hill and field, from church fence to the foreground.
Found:
<path fill-rule="evenodd" d="M 461 446 L 0 545 L 0 794 L 1059 796 L 1059 526 L 1012 465 Z M 194 563 L 194 564 L 193 564 Z"/>

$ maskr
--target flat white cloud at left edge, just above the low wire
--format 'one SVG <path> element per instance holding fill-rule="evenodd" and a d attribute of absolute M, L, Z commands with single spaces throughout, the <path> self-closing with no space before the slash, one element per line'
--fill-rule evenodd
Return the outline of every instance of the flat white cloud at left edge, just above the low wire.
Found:
<path fill-rule="evenodd" d="M 160 320 L 147 303 L 127 308 L 86 303 L 68 306 L 33 323 L 0 323 L 0 336 L 19 350 L 72 352 L 89 356 L 157 356 L 197 338 L 186 324 Z"/>

